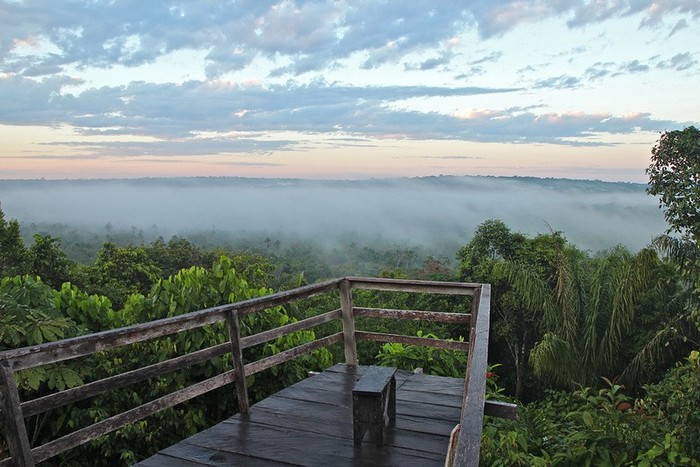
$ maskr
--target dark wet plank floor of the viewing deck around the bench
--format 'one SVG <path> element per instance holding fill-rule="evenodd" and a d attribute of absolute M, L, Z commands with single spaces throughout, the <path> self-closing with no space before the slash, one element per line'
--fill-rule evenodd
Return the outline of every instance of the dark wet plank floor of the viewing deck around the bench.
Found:
<path fill-rule="evenodd" d="M 442 466 L 463 380 L 396 373 L 396 426 L 385 445 L 352 440 L 352 387 L 366 367 L 339 364 L 141 462 L 143 467 Z"/>

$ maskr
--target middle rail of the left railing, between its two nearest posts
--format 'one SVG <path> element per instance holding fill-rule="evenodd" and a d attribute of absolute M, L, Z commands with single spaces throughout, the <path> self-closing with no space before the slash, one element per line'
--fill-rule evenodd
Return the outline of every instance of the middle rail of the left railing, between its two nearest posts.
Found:
<path fill-rule="evenodd" d="M 201 363 L 210 358 L 219 357 L 231 351 L 229 343 L 215 345 L 206 349 L 190 352 L 179 357 L 174 357 L 153 365 L 137 368 L 109 378 L 100 379 L 65 391 L 38 397 L 30 401 L 22 402 L 22 411 L 25 417 L 30 417 L 47 410 L 52 410 L 88 397 L 102 394 L 106 391 L 120 389 L 134 383 L 160 376 L 172 371 L 181 370 L 191 365 Z"/>

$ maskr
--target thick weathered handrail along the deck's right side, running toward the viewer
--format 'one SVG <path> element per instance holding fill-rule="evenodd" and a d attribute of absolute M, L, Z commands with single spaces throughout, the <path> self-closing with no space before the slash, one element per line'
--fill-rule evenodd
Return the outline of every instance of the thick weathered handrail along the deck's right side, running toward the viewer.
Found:
<path fill-rule="evenodd" d="M 484 420 L 486 394 L 486 368 L 489 345 L 489 321 L 491 286 L 484 284 L 475 294 L 472 313 L 476 316 L 471 333 L 473 344 L 469 351 L 469 367 L 466 378 L 466 398 L 460 418 L 455 463 L 457 467 L 479 465 L 479 450 Z"/>

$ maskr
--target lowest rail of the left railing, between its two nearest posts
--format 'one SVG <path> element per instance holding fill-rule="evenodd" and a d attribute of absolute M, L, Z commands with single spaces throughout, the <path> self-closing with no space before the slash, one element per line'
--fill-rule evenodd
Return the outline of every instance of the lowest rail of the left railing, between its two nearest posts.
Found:
<path fill-rule="evenodd" d="M 76 430 L 66 436 L 43 444 L 32 449 L 32 455 L 36 462 L 45 461 L 46 459 L 93 440 L 98 436 L 111 433 L 129 423 L 141 420 L 163 409 L 173 407 L 206 392 L 230 384 L 234 379 L 235 375 L 233 370 L 213 376 L 179 391 L 172 392 L 167 396 L 134 407 L 131 410 L 114 415 L 106 420 L 94 423 L 88 427 Z"/>

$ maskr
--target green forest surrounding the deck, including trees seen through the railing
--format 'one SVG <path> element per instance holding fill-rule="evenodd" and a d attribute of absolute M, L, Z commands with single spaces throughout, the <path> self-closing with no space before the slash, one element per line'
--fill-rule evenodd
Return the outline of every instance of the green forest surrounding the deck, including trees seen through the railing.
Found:
<path fill-rule="evenodd" d="M 346 274 L 483 282 L 492 285 L 488 397 L 519 404 L 518 420 L 488 418 L 483 465 L 700 465 L 700 131 L 664 133 L 647 169 L 666 232 L 637 251 L 617 245 L 591 252 L 565 232 L 521 233 L 503 220 L 480 223 L 454 258 L 404 244 L 348 241 L 334 249 L 293 238 L 220 241 L 172 236 L 145 240 L 110 226 L 89 240 L 6 218 L 0 207 L 0 350 L 114 329 L 265 295 Z M 31 238 L 26 237 L 27 232 Z M 221 240 L 220 238 L 218 240 Z M 70 245 L 64 249 L 64 245 Z M 376 299 L 367 292 L 359 302 Z M 270 310 L 249 331 L 303 319 L 323 309 L 323 296 Z M 393 297 L 396 308 L 408 296 Z M 449 311 L 450 299 L 419 297 L 420 308 Z M 411 303 L 410 305 L 415 305 Z M 460 339 L 450 325 L 396 324 L 399 333 Z M 224 342 L 217 329 L 108 352 L 82 364 L 18 373 L 23 399 L 138 366 L 150 346 L 163 358 L 198 340 Z M 395 330 L 390 330 L 395 331 Z M 279 352 L 312 340 L 309 331 L 256 349 Z M 341 360 L 341 349 L 317 351 L 263 373 L 256 399 Z M 362 363 L 424 368 L 463 376 L 465 356 L 409 345 L 372 343 Z M 34 443 L 126 410 L 214 369 L 215 359 L 69 408 L 30 417 Z M 461 374 L 460 374 L 461 372 Z M 201 431 L 236 410 L 230 392 L 214 391 L 68 451 L 56 465 L 130 465 Z M 58 412 L 58 413 L 56 413 Z M 0 437 L 0 458 L 8 455 Z"/>

